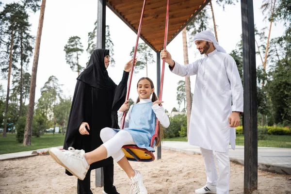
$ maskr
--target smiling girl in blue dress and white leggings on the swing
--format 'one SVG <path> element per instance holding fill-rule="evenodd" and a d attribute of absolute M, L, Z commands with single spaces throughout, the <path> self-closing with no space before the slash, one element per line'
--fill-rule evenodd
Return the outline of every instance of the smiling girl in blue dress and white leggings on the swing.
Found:
<path fill-rule="evenodd" d="M 169 127 L 170 121 L 163 107 L 159 106 L 163 101 L 158 100 L 154 92 L 154 84 L 149 78 L 141 78 L 138 81 L 137 93 L 139 97 L 136 104 L 129 108 L 127 100 L 117 112 L 118 125 L 121 126 L 123 112 L 129 109 L 125 119 L 125 129 L 102 129 L 100 137 L 104 144 L 91 152 L 85 153 L 73 147 L 69 147 L 69 150 L 52 148 L 51 157 L 77 178 L 82 179 L 91 163 L 112 156 L 130 179 L 130 193 L 147 194 L 141 173 L 132 169 L 121 148 L 124 145 L 137 145 L 154 151 L 154 148 L 150 147 L 150 141 L 155 133 L 156 119 L 158 118 L 165 128 Z M 159 126 L 159 140 L 155 143 L 156 146 L 161 144 L 162 132 L 162 127 Z"/>

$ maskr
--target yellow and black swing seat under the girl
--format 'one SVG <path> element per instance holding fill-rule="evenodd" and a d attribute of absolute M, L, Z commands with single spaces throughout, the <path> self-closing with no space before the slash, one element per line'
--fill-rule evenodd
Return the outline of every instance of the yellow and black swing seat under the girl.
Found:
<path fill-rule="evenodd" d="M 154 140 L 158 141 L 158 131 L 156 131 L 156 134 L 153 135 L 150 146 L 153 147 Z M 146 148 L 140 148 L 136 145 L 125 145 L 122 146 L 122 150 L 125 154 L 125 157 L 129 161 L 134 162 L 152 162 L 155 160 L 155 155 L 152 151 L 148 151 Z"/>

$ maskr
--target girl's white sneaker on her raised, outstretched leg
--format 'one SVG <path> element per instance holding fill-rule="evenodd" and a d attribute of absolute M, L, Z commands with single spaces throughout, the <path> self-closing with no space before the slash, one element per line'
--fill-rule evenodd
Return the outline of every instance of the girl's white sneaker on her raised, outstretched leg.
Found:
<path fill-rule="evenodd" d="M 84 150 L 75 150 L 73 147 L 60 150 L 54 147 L 49 150 L 49 154 L 53 160 L 64 166 L 74 176 L 81 180 L 85 178 L 90 166 L 86 162 Z"/>

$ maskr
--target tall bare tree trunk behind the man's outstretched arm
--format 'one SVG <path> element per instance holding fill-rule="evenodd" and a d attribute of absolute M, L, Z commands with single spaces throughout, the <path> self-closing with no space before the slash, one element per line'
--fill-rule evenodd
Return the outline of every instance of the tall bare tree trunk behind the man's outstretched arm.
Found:
<path fill-rule="evenodd" d="M 189 64 L 188 61 L 188 46 L 187 46 L 187 34 L 186 28 L 182 30 L 182 38 L 183 38 L 183 51 L 184 51 L 184 64 Z M 189 134 L 189 125 L 190 125 L 190 116 L 192 109 L 192 100 L 191 100 L 191 82 L 190 77 L 185 77 L 185 91 L 186 91 L 186 112 L 187 112 L 187 139 Z"/>

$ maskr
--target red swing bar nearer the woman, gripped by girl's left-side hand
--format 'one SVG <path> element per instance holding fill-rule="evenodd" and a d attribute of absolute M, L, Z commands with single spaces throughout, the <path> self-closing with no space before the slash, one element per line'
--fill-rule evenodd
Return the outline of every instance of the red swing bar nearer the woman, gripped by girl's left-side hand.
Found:
<path fill-rule="evenodd" d="M 144 0 L 143 10 L 142 10 L 141 18 L 140 18 L 140 23 L 139 23 L 139 26 L 138 26 L 137 38 L 136 38 L 136 42 L 135 42 L 135 48 L 134 48 L 134 52 L 133 52 L 133 59 L 132 59 L 132 65 L 131 65 L 132 67 L 131 67 L 130 76 L 129 76 L 129 86 L 128 86 L 128 90 L 127 90 L 127 93 L 126 93 L 125 100 L 129 99 L 129 92 L 130 92 L 132 74 L 133 74 L 133 69 L 134 69 L 134 60 L 135 60 L 136 51 L 137 51 L 137 47 L 138 47 L 138 40 L 139 40 L 139 37 L 140 37 L 140 34 L 141 34 L 141 30 L 142 30 L 142 23 L 143 23 L 145 6 L 146 6 L 146 0 Z M 126 116 L 126 112 L 124 112 L 123 115 L 122 115 L 122 121 L 121 121 L 121 128 L 120 129 L 124 128 L 125 116 Z"/>

